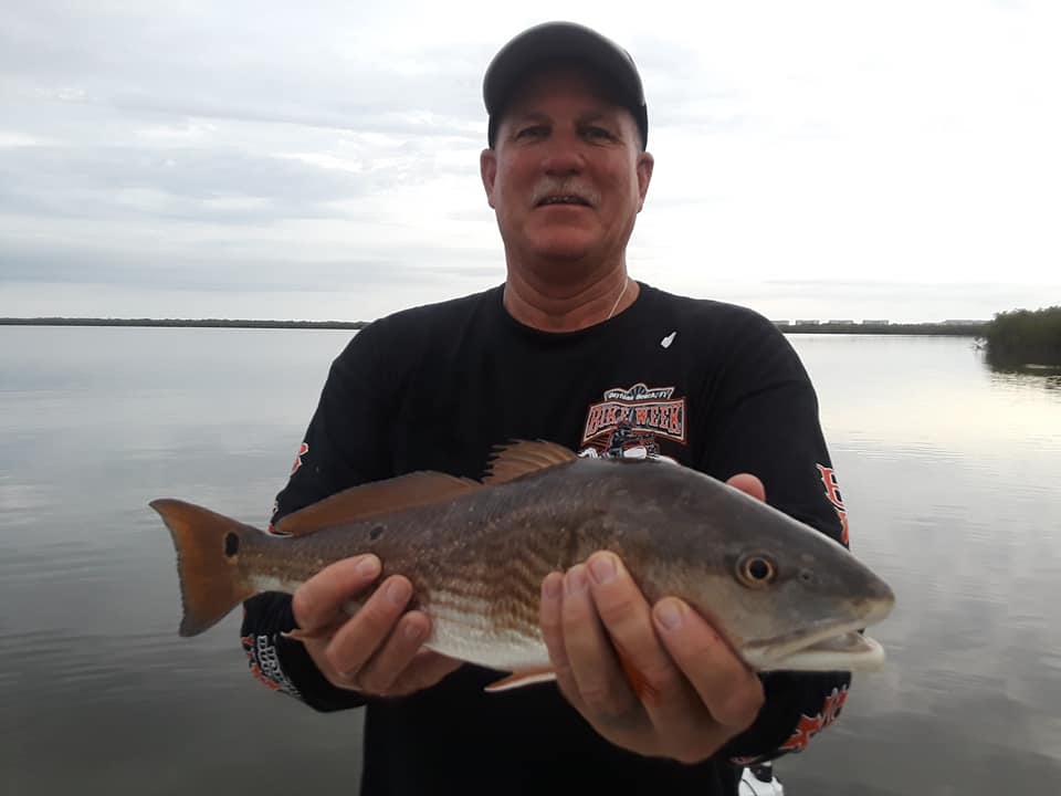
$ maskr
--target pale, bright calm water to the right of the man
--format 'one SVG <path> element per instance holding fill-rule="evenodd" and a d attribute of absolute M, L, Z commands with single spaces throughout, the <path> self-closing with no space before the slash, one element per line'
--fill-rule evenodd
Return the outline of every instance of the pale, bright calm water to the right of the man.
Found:
<path fill-rule="evenodd" d="M 874 633 L 887 669 L 858 678 L 836 735 L 778 766 L 786 785 L 1054 793 L 1058 375 L 997 371 L 960 339 L 794 344 L 821 396 L 853 548 L 899 601 Z"/>

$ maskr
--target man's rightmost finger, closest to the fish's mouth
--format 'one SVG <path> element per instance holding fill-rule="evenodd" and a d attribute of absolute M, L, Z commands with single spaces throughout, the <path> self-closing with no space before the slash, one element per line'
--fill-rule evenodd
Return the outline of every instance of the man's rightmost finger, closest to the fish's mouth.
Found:
<path fill-rule="evenodd" d="M 665 597 L 652 609 L 660 639 L 729 735 L 752 724 L 763 706 L 763 684 L 711 625 L 685 603 Z"/>

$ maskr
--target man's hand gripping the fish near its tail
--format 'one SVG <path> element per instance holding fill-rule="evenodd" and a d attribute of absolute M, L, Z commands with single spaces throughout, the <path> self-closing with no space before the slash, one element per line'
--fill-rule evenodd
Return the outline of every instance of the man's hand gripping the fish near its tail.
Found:
<path fill-rule="evenodd" d="M 434 685 L 461 661 L 423 649 L 431 631 L 422 611 L 406 612 L 408 578 L 387 578 L 350 616 L 344 605 L 379 577 L 379 558 L 357 556 L 325 567 L 294 594 L 295 633 L 333 685 L 368 696 L 399 696 Z"/>

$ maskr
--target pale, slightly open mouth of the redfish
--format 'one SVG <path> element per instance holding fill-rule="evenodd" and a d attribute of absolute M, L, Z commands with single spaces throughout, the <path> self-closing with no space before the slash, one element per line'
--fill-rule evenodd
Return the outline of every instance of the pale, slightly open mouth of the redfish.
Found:
<path fill-rule="evenodd" d="M 758 671 L 880 671 L 884 648 L 862 633 L 868 625 L 883 618 L 890 608 L 874 610 L 876 616 L 844 622 L 821 622 L 809 628 L 746 645 L 742 653 Z"/>

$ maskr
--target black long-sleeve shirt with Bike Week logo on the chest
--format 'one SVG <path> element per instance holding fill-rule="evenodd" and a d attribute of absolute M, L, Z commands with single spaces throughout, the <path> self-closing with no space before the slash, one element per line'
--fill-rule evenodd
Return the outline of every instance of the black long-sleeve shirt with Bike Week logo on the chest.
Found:
<path fill-rule="evenodd" d="M 479 479 L 491 449 L 514 439 L 669 457 L 723 480 L 750 472 L 771 505 L 848 543 L 817 397 L 788 341 L 749 310 L 643 283 L 626 312 L 574 333 L 518 324 L 501 287 L 367 326 L 333 363 L 273 520 L 414 470 Z M 245 604 L 251 668 L 316 710 L 365 706 L 364 796 L 540 794 L 582 779 L 613 794 L 736 794 L 742 764 L 802 750 L 850 684 L 847 672 L 760 674 L 754 725 L 684 765 L 613 746 L 555 687 L 486 694 L 497 672 L 471 664 L 416 694 L 366 700 L 280 636 L 293 625 L 288 595 Z"/>

